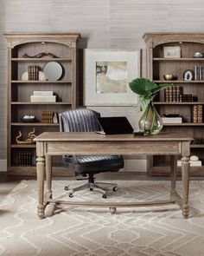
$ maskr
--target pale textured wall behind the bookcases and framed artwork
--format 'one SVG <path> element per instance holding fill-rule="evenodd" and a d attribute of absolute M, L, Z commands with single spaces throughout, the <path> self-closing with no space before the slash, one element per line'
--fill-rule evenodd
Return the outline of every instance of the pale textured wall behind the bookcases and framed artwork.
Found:
<path fill-rule="evenodd" d="M 3 32 L 77 31 L 80 48 L 141 48 L 143 33 L 202 31 L 202 0 L 0 0 L 0 160 L 6 159 L 6 44 Z M 102 115 L 127 115 L 133 108 L 97 108 Z"/>

